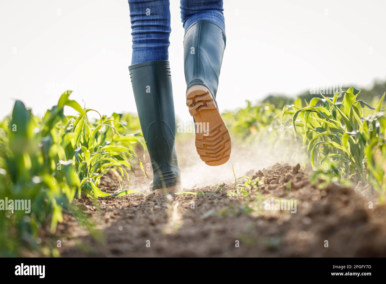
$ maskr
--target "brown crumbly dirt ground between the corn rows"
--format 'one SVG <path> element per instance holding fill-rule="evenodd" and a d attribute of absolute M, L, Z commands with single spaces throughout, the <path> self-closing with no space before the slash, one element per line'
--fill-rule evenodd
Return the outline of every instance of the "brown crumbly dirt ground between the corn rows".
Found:
<path fill-rule="evenodd" d="M 377 205 L 376 196 L 334 184 L 319 189 L 299 165 L 277 163 L 247 175 L 252 185 L 242 178 L 237 189 L 229 180 L 184 189 L 190 194 L 102 197 L 100 209 L 83 198 L 78 206 L 102 237 L 92 237 L 65 215 L 58 227 L 59 252 L 63 257 L 386 256 L 386 207 Z M 131 188 L 146 188 L 148 182 L 138 177 Z M 104 179 L 101 189 L 115 187 Z M 280 199 L 292 200 L 293 207 L 275 208 Z"/>

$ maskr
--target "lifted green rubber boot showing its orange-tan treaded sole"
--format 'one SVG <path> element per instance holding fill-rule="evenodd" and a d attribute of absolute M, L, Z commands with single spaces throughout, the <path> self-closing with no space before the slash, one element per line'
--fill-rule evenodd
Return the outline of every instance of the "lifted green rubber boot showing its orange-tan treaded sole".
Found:
<path fill-rule="evenodd" d="M 207 20 L 195 22 L 184 36 L 186 105 L 196 126 L 196 150 L 207 165 L 230 157 L 231 142 L 216 102 L 225 33 Z"/>

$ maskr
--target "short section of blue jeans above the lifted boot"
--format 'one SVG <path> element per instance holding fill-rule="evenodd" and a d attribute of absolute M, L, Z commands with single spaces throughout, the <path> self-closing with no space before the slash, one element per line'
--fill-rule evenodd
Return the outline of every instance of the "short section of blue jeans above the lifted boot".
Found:
<path fill-rule="evenodd" d="M 181 0 L 181 20 L 186 31 L 191 24 L 199 20 L 208 20 L 225 31 L 222 0 Z"/>

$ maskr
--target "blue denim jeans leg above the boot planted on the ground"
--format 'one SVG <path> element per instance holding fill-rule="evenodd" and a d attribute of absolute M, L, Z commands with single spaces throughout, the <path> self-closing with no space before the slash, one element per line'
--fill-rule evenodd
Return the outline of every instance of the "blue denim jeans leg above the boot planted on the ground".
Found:
<path fill-rule="evenodd" d="M 169 0 L 129 0 L 132 29 L 131 64 L 168 60 Z"/>

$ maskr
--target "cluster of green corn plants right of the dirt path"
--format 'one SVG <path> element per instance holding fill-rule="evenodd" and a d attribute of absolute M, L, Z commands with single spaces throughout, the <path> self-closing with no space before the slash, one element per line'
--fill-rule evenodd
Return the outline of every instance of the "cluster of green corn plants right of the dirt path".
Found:
<path fill-rule="evenodd" d="M 384 96 L 372 107 L 356 96 L 351 87 L 337 90 L 334 97 L 313 98 L 302 105 L 288 105 L 283 114 L 293 114 L 292 123 L 303 140 L 314 168 L 334 161 L 345 179 L 368 180 L 381 192 L 384 202 L 384 153 L 386 116 L 381 109 Z M 341 101 L 340 101 L 341 100 Z M 372 113 L 363 117 L 364 111 Z"/>

